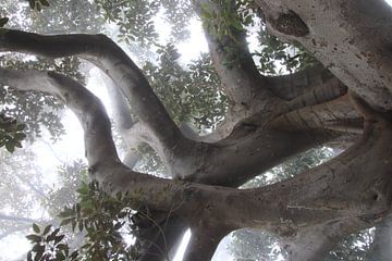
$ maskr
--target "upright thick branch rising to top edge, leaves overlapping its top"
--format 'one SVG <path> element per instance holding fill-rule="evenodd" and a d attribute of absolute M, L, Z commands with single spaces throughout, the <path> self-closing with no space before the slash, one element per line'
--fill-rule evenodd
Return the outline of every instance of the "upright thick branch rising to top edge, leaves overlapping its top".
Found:
<path fill-rule="evenodd" d="M 232 14 L 236 13 L 235 1 L 224 4 L 232 8 Z M 283 100 L 268 89 L 267 78 L 259 74 L 247 48 L 244 30 L 228 25 L 229 33 L 225 35 L 209 32 L 215 26 L 223 30 L 219 17 L 226 15 L 228 10 L 223 10 L 226 7 L 207 0 L 194 1 L 194 7 L 204 22 L 212 62 L 230 103 L 225 120 L 212 135 L 205 137 L 209 142 L 228 137 L 238 122 L 255 113 L 259 113 L 261 121 L 266 121 L 272 108 Z M 217 18 L 208 17 L 212 13 Z"/>

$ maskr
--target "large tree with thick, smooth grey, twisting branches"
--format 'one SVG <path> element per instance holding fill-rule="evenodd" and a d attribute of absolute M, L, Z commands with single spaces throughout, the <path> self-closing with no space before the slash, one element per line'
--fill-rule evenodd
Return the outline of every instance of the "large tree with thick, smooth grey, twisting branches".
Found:
<path fill-rule="evenodd" d="M 101 69 L 117 90 L 112 92 L 118 101 L 117 124 L 130 151 L 127 159 L 133 148 L 147 144 L 163 162 L 172 179 L 122 163 L 105 108 L 77 80 L 53 71 L 0 69 L 4 85 L 51 94 L 78 116 L 88 173 L 96 186 L 114 199 L 126 198 L 123 202 L 143 213 L 144 223 L 155 224 L 155 229 L 139 225 L 139 259 L 163 259 L 166 254 L 158 250 L 170 252 L 191 227 L 185 259 L 208 260 L 224 235 L 254 227 L 277 234 L 291 260 L 320 260 L 343 237 L 387 217 L 392 164 L 392 12 L 387 3 L 192 3 L 206 28 L 210 57 L 228 99 L 224 120 L 205 136 L 174 123 L 143 72 L 110 38 L 0 30 L 0 51 L 52 59 L 75 55 Z M 258 13 L 271 34 L 297 41 L 318 62 L 289 75 L 261 75 L 243 29 L 249 13 Z M 171 84 L 171 78 L 167 82 Z M 348 148 L 291 178 L 254 189 L 236 188 L 321 144 Z M 112 244 L 113 249 L 121 245 Z"/>

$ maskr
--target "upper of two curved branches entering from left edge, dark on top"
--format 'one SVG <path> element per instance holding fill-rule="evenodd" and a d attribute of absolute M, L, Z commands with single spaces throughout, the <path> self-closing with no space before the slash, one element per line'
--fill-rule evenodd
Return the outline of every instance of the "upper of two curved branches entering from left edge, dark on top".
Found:
<path fill-rule="evenodd" d="M 17 51 L 49 58 L 77 55 L 100 67 L 121 88 L 133 111 L 166 148 L 183 138 L 149 83 L 135 63 L 105 35 L 42 36 L 0 30 L 0 51 Z"/>

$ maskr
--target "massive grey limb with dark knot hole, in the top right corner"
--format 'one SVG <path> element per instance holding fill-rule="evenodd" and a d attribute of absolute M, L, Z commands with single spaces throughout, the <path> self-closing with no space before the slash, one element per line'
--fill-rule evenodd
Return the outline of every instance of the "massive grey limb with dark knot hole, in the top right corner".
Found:
<path fill-rule="evenodd" d="M 273 34 L 303 44 L 373 107 L 392 109 L 392 12 L 385 1 L 256 2 Z"/>

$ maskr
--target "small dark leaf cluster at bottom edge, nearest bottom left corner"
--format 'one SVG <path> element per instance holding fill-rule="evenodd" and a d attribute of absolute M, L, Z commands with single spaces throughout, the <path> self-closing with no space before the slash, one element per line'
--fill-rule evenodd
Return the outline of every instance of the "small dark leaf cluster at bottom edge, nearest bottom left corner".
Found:
<path fill-rule="evenodd" d="M 34 234 L 26 236 L 33 244 L 32 250 L 27 252 L 27 261 L 75 261 L 77 260 L 77 250 L 71 252 L 70 247 L 62 243 L 65 235 L 59 234 L 60 228 L 52 228 L 47 225 L 40 229 L 37 224 L 33 224 Z"/>

